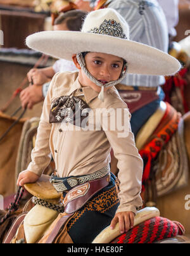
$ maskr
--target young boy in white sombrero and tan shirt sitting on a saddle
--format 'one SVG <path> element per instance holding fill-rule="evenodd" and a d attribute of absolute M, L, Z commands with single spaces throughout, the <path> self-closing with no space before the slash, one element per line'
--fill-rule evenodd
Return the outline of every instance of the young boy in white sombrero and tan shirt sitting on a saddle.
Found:
<path fill-rule="evenodd" d="M 50 151 L 57 176 L 66 181 L 69 177 L 92 177 L 99 172 L 107 175 L 113 148 L 118 159 L 120 204 L 109 190 L 115 186 L 111 176 L 108 186 L 99 191 L 96 203 L 87 202 L 70 222 L 69 234 L 75 243 L 91 242 L 110 222 L 111 228 L 119 222 L 120 232 L 128 231 L 142 206 L 143 161 L 130 130 L 129 110 L 114 86 L 124 79 L 127 70 L 132 74 L 168 75 L 179 70 L 179 62 L 162 51 L 130 41 L 127 23 L 109 8 L 89 13 L 82 32 L 40 32 L 30 35 L 27 45 L 59 58 L 72 58 L 79 73 L 54 76 L 44 101 L 32 162 L 20 174 L 17 184 L 37 181 L 49 164 Z M 81 127 L 77 121 L 76 125 L 70 122 L 70 113 L 77 115 L 77 103 L 81 117 L 85 110 L 91 110 L 88 119 L 91 127 L 96 110 L 103 110 L 101 129 L 85 130 L 82 122 Z M 65 109 L 69 109 L 67 114 Z M 104 115 L 106 110 L 110 110 L 108 115 Z M 123 126 L 119 125 L 121 120 Z"/>

